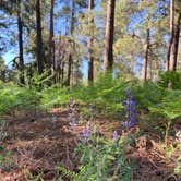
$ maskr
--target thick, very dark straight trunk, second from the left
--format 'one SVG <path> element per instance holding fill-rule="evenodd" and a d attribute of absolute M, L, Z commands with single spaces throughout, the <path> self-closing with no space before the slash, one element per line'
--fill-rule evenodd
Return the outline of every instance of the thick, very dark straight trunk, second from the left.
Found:
<path fill-rule="evenodd" d="M 41 35 L 41 15 L 40 15 L 40 0 L 36 0 L 36 33 L 37 33 L 37 47 L 36 47 L 36 56 L 37 56 L 37 65 L 38 73 L 43 73 L 43 35 Z"/>

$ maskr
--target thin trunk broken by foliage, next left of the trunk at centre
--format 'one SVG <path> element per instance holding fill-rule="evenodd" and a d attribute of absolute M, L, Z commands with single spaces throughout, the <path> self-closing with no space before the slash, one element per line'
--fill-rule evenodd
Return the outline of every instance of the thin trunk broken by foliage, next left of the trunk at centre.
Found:
<path fill-rule="evenodd" d="M 72 10 L 71 10 L 71 36 L 73 35 L 73 31 L 74 31 L 74 13 L 75 13 L 75 2 L 74 0 L 72 0 Z M 69 63 L 68 63 L 68 85 L 71 85 L 71 74 L 72 74 L 72 55 L 70 52 L 69 55 Z"/>

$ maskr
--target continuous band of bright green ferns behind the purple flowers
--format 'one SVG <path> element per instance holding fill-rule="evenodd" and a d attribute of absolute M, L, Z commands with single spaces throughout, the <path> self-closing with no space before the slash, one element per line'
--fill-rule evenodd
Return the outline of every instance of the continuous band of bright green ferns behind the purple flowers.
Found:
<path fill-rule="evenodd" d="M 156 83 L 138 81 L 122 81 L 110 76 L 100 77 L 92 86 L 73 88 L 55 85 L 41 90 L 19 87 L 13 83 L 0 82 L 0 114 L 12 113 L 15 110 L 49 110 L 52 107 L 69 106 L 70 98 L 82 105 L 93 104 L 98 113 L 114 114 L 123 111 L 122 101 L 126 87 L 133 90 L 138 110 L 150 111 L 155 114 L 176 119 L 181 116 L 181 89 L 168 89 Z"/>

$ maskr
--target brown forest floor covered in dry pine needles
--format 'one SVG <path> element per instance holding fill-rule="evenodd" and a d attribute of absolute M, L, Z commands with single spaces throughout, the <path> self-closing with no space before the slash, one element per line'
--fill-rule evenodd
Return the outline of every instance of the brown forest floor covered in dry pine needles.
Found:
<path fill-rule="evenodd" d="M 52 117 L 53 114 L 53 117 Z M 58 177 L 55 166 L 62 165 L 76 171 L 77 160 L 73 158 L 76 135 L 70 130 L 68 112 L 53 109 L 51 112 L 19 112 L 15 118 L 7 117 L 8 136 L 1 150 L 2 155 L 11 152 L 1 166 L 0 181 L 26 181 L 27 178 L 44 173 L 45 181 Z M 120 122 L 109 119 L 97 120 L 100 133 L 111 138 L 112 130 L 120 130 Z M 133 132 L 136 132 L 135 128 Z M 83 128 L 79 128 L 81 134 Z M 181 147 L 166 155 L 164 141 L 153 133 L 145 133 L 137 138 L 137 148 L 128 149 L 128 157 L 137 165 L 133 181 L 176 181 L 173 169 Z M 169 138 L 172 145 L 176 140 Z M 40 179 L 39 179 L 40 180 Z M 65 177 L 63 180 L 68 180 Z M 37 180 L 38 181 L 38 180 Z"/>

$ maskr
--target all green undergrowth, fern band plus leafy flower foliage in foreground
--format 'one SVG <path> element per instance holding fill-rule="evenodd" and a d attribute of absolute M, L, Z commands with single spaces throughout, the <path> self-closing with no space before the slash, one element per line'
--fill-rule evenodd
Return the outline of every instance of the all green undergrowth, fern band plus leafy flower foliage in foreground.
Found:
<path fill-rule="evenodd" d="M 169 146 L 167 145 L 169 130 L 173 121 L 181 117 L 181 89 L 179 89 L 179 86 L 174 86 L 173 89 L 167 88 L 164 81 L 165 79 L 162 77 L 162 82 L 146 82 L 143 84 L 137 80 L 130 82 L 101 76 L 90 86 L 79 85 L 70 88 L 53 85 L 43 89 L 39 86 L 38 88 L 27 88 L 19 87 L 13 83 L 0 82 L 0 119 L 3 120 L 5 114 L 14 116 L 20 110 L 48 111 L 53 107 L 68 108 L 70 99 L 73 98 L 79 102 L 79 112 L 82 112 L 84 117 L 90 118 L 88 116 L 88 105 L 94 105 L 95 116 L 100 117 L 100 113 L 102 116 L 119 114 L 119 119 L 123 121 L 125 116 L 123 113 L 125 109 L 125 92 L 130 88 L 136 102 L 138 102 L 136 105 L 137 112 L 134 113 L 134 116 L 140 114 L 136 124 L 145 121 L 147 126 L 150 126 L 149 121 L 154 121 L 159 125 L 165 120 L 166 126 L 162 134 L 165 135 L 166 146 Z M 132 100 L 130 101 L 133 102 Z M 129 104 L 128 100 L 126 104 Z M 142 112 L 146 114 L 147 120 L 142 120 Z M 88 134 L 88 132 L 83 134 Z M 133 168 L 125 157 L 125 149 L 130 144 L 134 144 L 134 138 L 122 140 L 120 137 L 116 140 L 110 141 L 93 134 L 89 140 L 90 144 L 83 141 L 76 147 L 76 152 L 81 155 L 79 172 L 71 172 L 61 166 L 57 167 L 57 171 L 75 181 L 110 181 L 119 180 L 120 178 L 125 178 L 124 180 L 126 181 L 131 180 Z M 5 162 L 3 158 L 1 158 L 1 162 Z M 180 158 L 174 171 L 180 174 Z"/>

